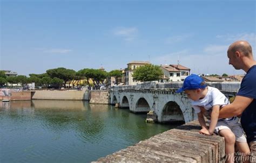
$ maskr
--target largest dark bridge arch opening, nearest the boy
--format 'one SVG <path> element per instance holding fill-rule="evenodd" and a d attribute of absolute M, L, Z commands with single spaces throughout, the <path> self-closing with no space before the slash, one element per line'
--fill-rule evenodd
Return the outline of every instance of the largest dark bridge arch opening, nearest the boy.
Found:
<path fill-rule="evenodd" d="M 185 122 L 183 111 L 175 101 L 169 101 L 161 112 L 161 122 Z"/>

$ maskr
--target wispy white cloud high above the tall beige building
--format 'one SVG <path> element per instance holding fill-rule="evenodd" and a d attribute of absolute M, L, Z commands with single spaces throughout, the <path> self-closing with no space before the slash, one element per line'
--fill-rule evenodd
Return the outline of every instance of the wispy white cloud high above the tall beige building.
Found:
<path fill-rule="evenodd" d="M 123 37 L 125 41 L 132 41 L 137 37 L 138 29 L 136 27 L 117 27 L 113 30 L 113 34 Z"/>

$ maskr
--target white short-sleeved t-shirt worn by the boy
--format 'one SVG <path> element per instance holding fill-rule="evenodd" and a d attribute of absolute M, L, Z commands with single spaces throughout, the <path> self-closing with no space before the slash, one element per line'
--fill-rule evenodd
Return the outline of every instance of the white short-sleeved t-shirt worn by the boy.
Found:
<path fill-rule="evenodd" d="M 194 108 L 194 111 L 198 114 L 201 112 L 200 107 L 204 107 L 205 110 L 211 110 L 213 105 L 220 105 L 223 107 L 224 105 L 230 104 L 228 98 L 219 91 L 217 88 L 209 87 L 206 96 L 203 99 L 198 101 L 191 100 L 191 104 Z M 230 118 L 225 118 L 225 120 L 229 120 Z"/>

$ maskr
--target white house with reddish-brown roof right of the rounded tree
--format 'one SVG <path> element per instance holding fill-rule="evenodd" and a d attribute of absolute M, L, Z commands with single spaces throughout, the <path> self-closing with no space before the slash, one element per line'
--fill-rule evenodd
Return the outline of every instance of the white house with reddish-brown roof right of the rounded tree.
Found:
<path fill-rule="evenodd" d="M 166 81 L 164 79 L 168 78 L 169 82 L 172 81 L 184 81 L 184 79 L 190 75 L 190 68 L 187 68 L 182 65 L 165 65 L 160 66 L 164 72 L 163 79 L 161 81 Z M 160 81 L 160 82 L 161 82 Z"/>

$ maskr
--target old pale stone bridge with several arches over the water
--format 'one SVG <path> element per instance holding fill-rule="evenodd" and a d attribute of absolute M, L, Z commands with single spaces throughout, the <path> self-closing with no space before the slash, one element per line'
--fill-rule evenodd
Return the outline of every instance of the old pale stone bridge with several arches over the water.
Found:
<path fill-rule="evenodd" d="M 226 96 L 234 96 L 239 82 L 209 82 L 208 86 L 218 88 Z M 110 89 L 110 103 L 132 112 L 154 112 L 156 121 L 185 123 L 197 119 L 186 94 L 177 94 L 182 82 L 144 82 L 136 86 L 115 86 Z"/>

